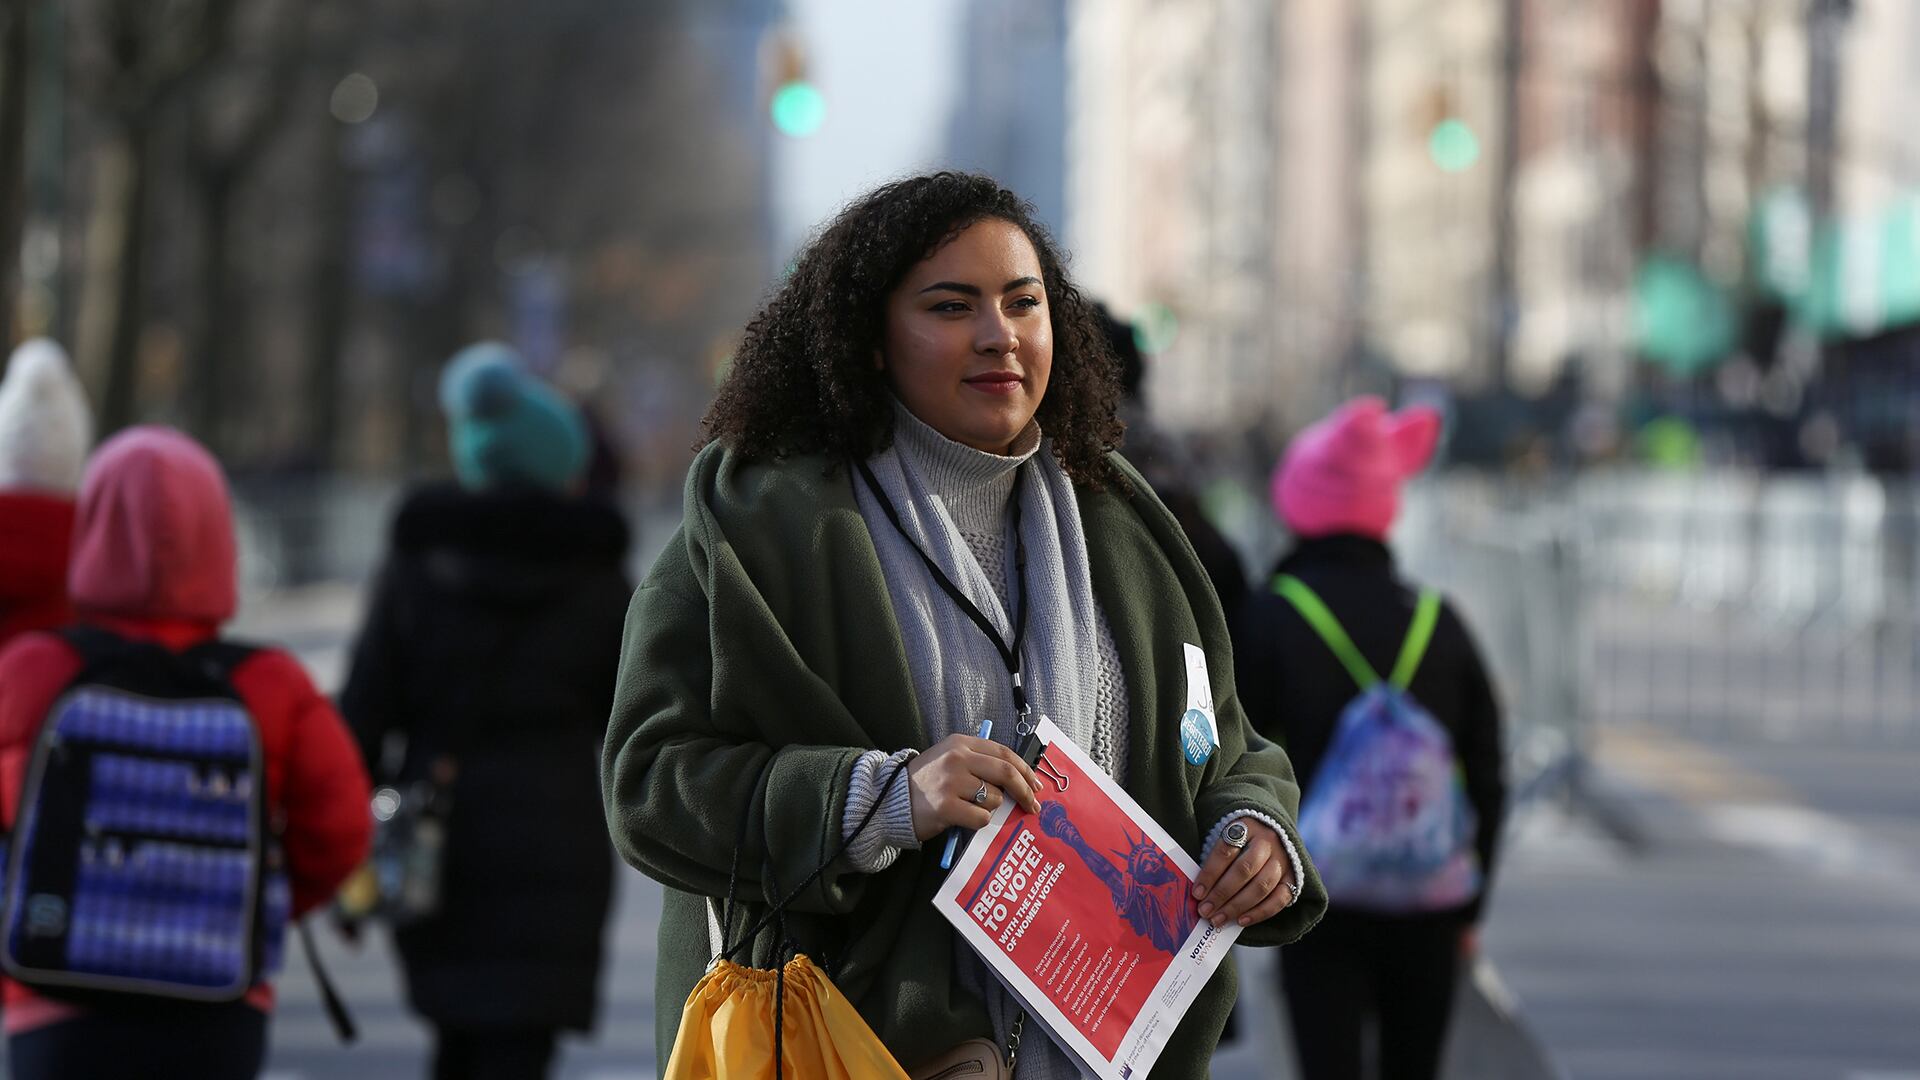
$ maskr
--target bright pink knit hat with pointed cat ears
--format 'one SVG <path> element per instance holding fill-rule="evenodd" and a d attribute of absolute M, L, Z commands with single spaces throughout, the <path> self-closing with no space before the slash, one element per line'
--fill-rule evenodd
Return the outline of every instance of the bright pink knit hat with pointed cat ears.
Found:
<path fill-rule="evenodd" d="M 1400 513 L 1400 484 L 1427 467 L 1438 440 L 1436 409 L 1388 413 L 1379 398 L 1354 398 L 1294 436 L 1273 471 L 1273 509 L 1294 536 L 1384 540 Z"/>

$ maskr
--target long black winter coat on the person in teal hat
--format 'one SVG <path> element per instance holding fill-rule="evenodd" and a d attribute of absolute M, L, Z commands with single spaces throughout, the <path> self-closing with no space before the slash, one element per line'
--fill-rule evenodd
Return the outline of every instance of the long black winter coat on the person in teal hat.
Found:
<path fill-rule="evenodd" d="M 611 505 L 413 494 L 340 711 L 376 780 L 453 757 L 442 909 L 396 934 L 413 1009 L 442 1026 L 591 1030 L 612 844 L 599 744 L 634 592 Z M 388 736 L 397 769 L 382 769 Z"/>

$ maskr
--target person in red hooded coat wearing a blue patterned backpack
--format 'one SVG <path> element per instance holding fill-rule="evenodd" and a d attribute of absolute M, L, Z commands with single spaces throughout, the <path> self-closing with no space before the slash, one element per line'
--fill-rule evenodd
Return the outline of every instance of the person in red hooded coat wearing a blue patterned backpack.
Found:
<path fill-rule="evenodd" d="M 276 842 L 269 842 L 263 859 L 275 871 L 284 859 L 284 886 L 290 890 L 290 913 L 275 913 L 276 886 L 271 882 L 280 878 L 275 874 L 261 884 L 267 896 L 261 919 L 271 922 L 263 947 L 278 953 L 286 915 L 298 919 L 324 903 L 340 880 L 367 857 L 369 788 L 346 724 L 315 690 L 300 661 L 282 650 L 246 650 L 219 640 L 221 625 L 234 613 L 234 571 L 227 480 L 200 444 L 175 430 L 136 427 L 100 448 L 81 486 L 67 577 L 81 628 L 23 634 L 0 653 L 0 813 L 6 815 L 8 828 L 19 824 L 13 815 L 40 726 L 75 686 L 106 686 L 106 671 L 125 673 L 140 665 L 182 678 L 217 671 L 217 684 L 230 690 L 257 730 L 259 771 L 265 774 L 261 811 L 276 822 Z M 138 711 L 148 719 L 165 715 L 175 726 L 169 732 L 150 732 L 159 736 L 152 746 L 192 742 L 205 732 L 205 709 L 198 701 L 196 709 L 167 713 L 163 703 L 144 700 Z M 108 757 L 88 746 L 75 740 L 67 749 L 94 753 L 96 767 L 106 769 Z M 156 761 L 157 753 L 150 748 L 142 757 Z M 119 761 L 125 765 L 127 759 Z M 192 784 L 194 792 L 146 790 L 165 805 L 180 805 L 207 788 L 213 778 L 207 769 L 200 767 L 198 774 L 205 782 Z M 42 780 L 38 776 L 36 784 Z M 234 784 L 234 792 L 246 786 Z M 84 798 L 92 813 L 98 805 L 94 799 L 108 794 L 81 792 L 75 798 Z M 171 821 L 165 826 L 169 838 L 186 838 L 186 817 Z M 42 830 L 40 836 L 48 838 L 50 832 Z M 106 857 L 111 865 L 138 869 L 179 855 L 182 842 L 123 838 L 109 846 Z M 81 899 L 73 903 L 75 911 L 84 901 L 84 888 L 83 882 L 77 890 Z M 163 882 L 152 888 L 159 890 Z M 123 890 L 117 896 L 121 905 L 127 899 L 156 901 L 132 903 L 131 911 L 123 907 L 119 924 L 125 947 L 152 940 L 152 928 L 142 919 L 165 907 L 157 903 L 161 896 L 167 905 L 192 907 L 192 897 L 182 899 L 177 888 L 165 894 L 136 892 L 131 897 Z M 73 934 L 69 949 L 77 949 L 83 926 L 75 920 L 67 928 Z M 79 1003 L 63 999 L 56 990 L 33 990 L 8 978 L 12 1076 L 255 1076 L 265 1059 L 267 1015 L 275 999 L 267 978 L 271 967 L 263 967 L 242 999 L 219 1005 L 159 997 Z"/>

